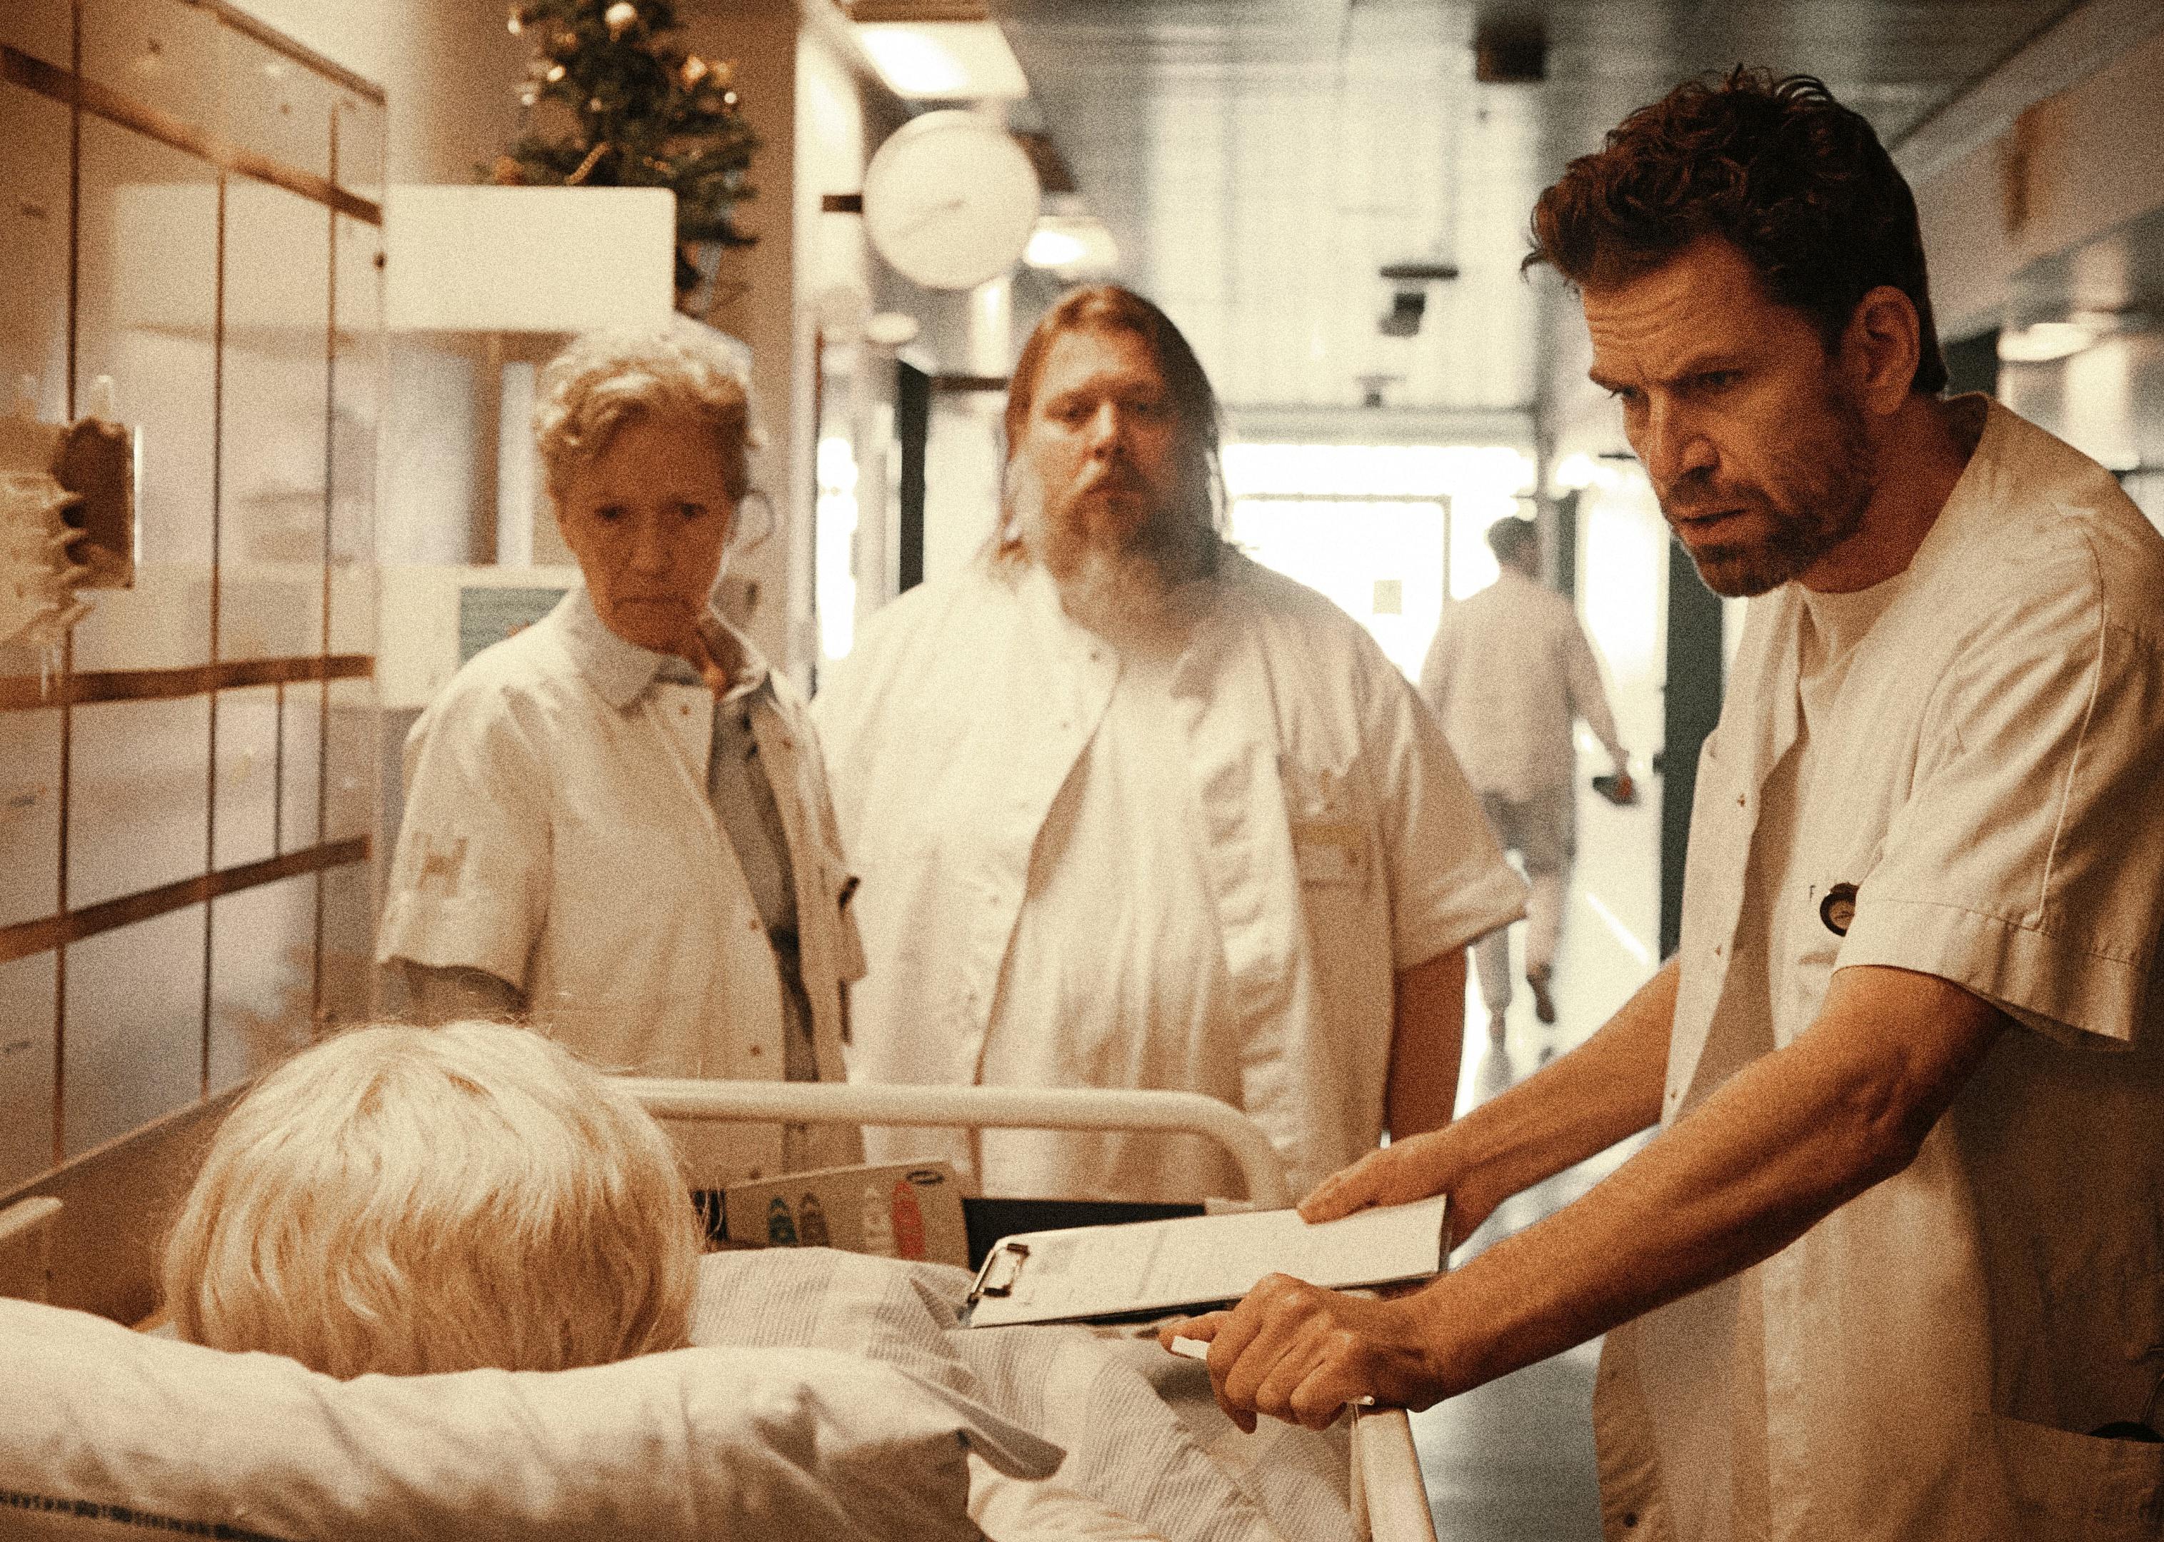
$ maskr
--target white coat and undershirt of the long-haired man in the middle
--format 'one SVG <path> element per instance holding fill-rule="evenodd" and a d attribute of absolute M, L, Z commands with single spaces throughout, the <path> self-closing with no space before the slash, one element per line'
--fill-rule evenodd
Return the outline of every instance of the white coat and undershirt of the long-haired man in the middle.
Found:
<path fill-rule="evenodd" d="M 1342 610 L 1233 551 L 1162 670 L 1076 625 L 1043 571 L 982 558 L 881 612 L 814 716 L 863 874 L 861 1081 L 1021 1066 L 1199 1088 L 1255 1116 L 1301 1189 L 1381 1135 L 1396 973 L 1521 910 L 1411 683 Z M 1073 839 L 1110 835 L 1119 800 L 1162 861 Z M 1037 923 L 1093 908 L 1106 926 Z M 1186 913 L 1175 958 L 1121 910 Z M 937 1131 L 866 1144 L 980 1155 Z M 1220 1177 L 995 1146 L 1015 1172 L 985 1170 L 987 1194 L 1201 1198 Z"/>

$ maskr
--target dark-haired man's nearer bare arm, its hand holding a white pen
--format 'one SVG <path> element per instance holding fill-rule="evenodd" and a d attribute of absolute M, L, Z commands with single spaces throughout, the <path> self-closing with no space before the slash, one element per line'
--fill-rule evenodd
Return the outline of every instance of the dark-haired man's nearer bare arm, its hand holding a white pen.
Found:
<path fill-rule="evenodd" d="M 1794 1045 L 1465 1270 L 1387 1302 L 1270 1276 L 1179 1332 L 1212 1339 L 1218 1399 L 1249 1427 L 1320 1427 L 1361 1395 L 1426 1408 L 1736 1274 L 1900 1172 L 2004 1023 L 1935 975 L 1842 969 Z"/>

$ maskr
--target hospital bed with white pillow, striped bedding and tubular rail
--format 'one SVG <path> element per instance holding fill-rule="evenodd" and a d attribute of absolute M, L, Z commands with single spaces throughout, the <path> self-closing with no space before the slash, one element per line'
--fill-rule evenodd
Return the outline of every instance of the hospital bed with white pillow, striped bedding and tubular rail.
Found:
<path fill-rule="evenodd" d="M 1288 1198 L 1259 1131 L 1190 1094 L 712 1081 L 634 1090 L 671 1118 L 1186 1131 L 1220 1140 L 1257 1200 Z M 1043 1479 L 1082 1490 L 1084 1473 L 1110 1473 L 1114 1488 L 1164 1503 L 1130 1505 L 1121 1492 L 1095 1492 L 1093 1503 L 1175 1538 L 1435 1538 L 1400 1410 L 1365 1412 L 1350 1434 L 1264 1421 L 1257 1436 L 1240 1436 L 1210 1401 L 1201 1367 L 1134 1328 L 954 1328 L 948 1304 L 959 1300 L 954 1276 L 967 1282 L 961 1270 L 824 1248 L 714 1254 L 701 1261 L 692 1347 L 582 1371 L 335 1382 L 279 1356 L 203 1350 L 37 1304 L 54 1209 L 35 1200 L 0 1215 L 0 1263 L 22 1259 L 6 1282 L 30 1298 L 0 1298 L 9 1538 L 128 1542 L 182 1529 L 275 1542 L 690 1542 L 714 1536 L 718 1518 L 734 1542 L 967 1542 L 976 1531 L 956 1501 L 974 1499 L 982 1466 L 1032 1490 Z M 915 1330 L 959 1375 L 859 1341 L 861 1317 L 833 1311 L 840 1291 L 803 1289 L 807 1274 L 850 1276 L 861 1298 L 885 1291 L 913 1306 Z M 926 1276 L 937 1276 L 935 1291 Z M 788 1337 L 803 1315 L 766 1339 L 727 1332 L 731 1319 L 773 1319 L 790 1293 L 799 1306 L 814 1302 L 829 1332 Z M 937 1293 L 948 1328 L 911 1293 Z M 725 1330 L 701 1337 L 701 1315 Z M 993 1388 L 995 1401 L 978 1395 Z M 1203 1425 L 1210 1434 L 1184 1434 Z M 1301 1525 L 1305 1516 L 1324 1525 Z"/>

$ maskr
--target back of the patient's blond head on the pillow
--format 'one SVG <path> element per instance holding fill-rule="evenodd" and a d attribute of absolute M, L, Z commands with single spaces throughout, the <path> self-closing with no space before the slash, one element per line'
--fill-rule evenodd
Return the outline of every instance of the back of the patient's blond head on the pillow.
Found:
<path fill-rule="evenodd" d="M 684 1343 L 697 1218 L 660 1127 L 524 1027 L 361 1027 L 264 1077 L 173 1224 L 180 1337 L 331 1375 Z"/>

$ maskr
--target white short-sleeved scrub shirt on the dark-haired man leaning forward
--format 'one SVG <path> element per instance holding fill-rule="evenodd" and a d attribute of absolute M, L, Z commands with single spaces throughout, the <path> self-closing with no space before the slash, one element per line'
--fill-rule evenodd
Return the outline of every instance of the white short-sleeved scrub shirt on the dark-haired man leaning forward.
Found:
<path fill-rule="evenodd" d="M 2164 541 L 2000 407 L 1904 575 L 1751 601 L 1699 759 L 1664 1122 L 1850 965 L 2017 1025 L 1904 1172 L 1610 1334 L 1612 1536 L 2158 1536 L 2164 1447 L 2088 1432 L 2164 1373 L 2160 766 Z"/>

